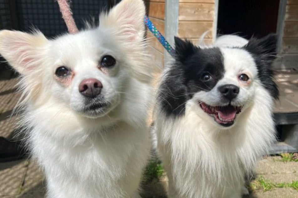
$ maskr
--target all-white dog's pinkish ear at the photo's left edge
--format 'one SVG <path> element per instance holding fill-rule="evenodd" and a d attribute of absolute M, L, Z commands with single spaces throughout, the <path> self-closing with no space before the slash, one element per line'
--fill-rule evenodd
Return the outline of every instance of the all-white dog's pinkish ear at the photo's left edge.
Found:
<path fill-rule="evenodd" d="M 19 73 L 24 74 L 38 66 L 41 49 L 48 40 L 40 32 L 0 31 L 0 54 Z"/>

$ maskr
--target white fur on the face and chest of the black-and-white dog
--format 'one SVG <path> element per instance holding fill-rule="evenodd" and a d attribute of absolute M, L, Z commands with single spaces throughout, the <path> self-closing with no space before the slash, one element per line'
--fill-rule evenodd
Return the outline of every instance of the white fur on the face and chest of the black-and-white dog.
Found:
<path fill-rule="evenodd" d="M 252 56 L 244 50 L 225 48 L 227 42 L 221 39 L 216 45 L 224 46 L 220 50 L 226 72 L 214 90 L 226 83 L 239 86 L 243 95 L 238 105 L 244 104 L 243 110 L 234 125 L 225 128 L 198 105 L 199 100 L 216 105 L 218 94 L 212 91 L 196 93 L 186 102 L 185 115 L 178 118 L 166 116 L 157 106 L 158 151 L 169 177 L 170 198 L 241 197 L 246 190 L 243 188 L 245 174 L 254 168 L 275 140 L 274 101 L 257 79 Z M 233 39 L 228 39 L 229 46 L 239 45 L 231 41 Z M 237 81 L 239 73 L 249 75 L 250 86 Z M 161 83 L 166 75 L 167 71 Z"/>

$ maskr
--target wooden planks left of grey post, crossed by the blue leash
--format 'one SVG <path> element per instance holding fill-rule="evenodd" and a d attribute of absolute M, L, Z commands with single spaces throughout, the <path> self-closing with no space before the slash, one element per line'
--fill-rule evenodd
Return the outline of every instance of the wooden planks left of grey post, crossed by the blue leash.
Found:
<path fill-rule="evenodd" d="M 154 26 L 165 34 L 165 0 L 144 0 L 147 16 L 154 24 Z M 154 35 L 147 30 L 147 39 L 149 42 L 149 53 L 152 55 L 153 61 L 157 68 L 164 67 L 164 47 L 154 37 Z M 158 72 L 158 71 L 156 71 Z"/>

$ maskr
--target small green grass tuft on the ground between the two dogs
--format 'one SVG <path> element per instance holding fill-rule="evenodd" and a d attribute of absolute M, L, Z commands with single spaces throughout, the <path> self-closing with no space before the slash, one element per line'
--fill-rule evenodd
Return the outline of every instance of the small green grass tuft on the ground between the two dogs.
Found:
<path fill-rule="evenodd" d="M 145 169 L 145 179 L 147 182 L 152 181 L 154 178 L 158 179 L 164 174 L 164 167 L 159 161 L 151 161 Z"/>

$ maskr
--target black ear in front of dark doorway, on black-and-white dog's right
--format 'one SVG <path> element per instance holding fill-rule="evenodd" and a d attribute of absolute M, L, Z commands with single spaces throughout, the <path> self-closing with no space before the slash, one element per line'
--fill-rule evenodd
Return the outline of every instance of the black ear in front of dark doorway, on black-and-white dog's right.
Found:
<path fill-rule="evenodd" d="M 262 58 L 263 61 L 273 62 L 276 58 L 277 36 L 269 34 L 261 39 L 251 38 L 245 48 L 248 52 Z"/>

